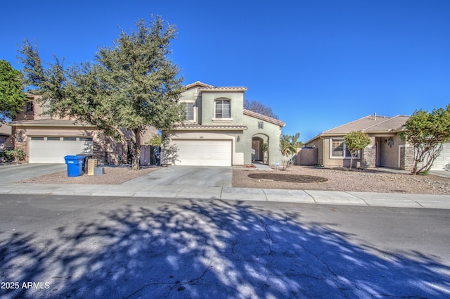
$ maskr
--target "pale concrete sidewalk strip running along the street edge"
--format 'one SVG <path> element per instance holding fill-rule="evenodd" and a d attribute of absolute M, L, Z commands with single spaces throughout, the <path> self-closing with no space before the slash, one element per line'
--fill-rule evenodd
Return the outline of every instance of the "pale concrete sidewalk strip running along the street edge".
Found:
<path fill-rule="evenodd" d="M 362 205 L 396 208 L 450 209 L 450 196 L 406 193 L 373 193 L 285 189 L 249 189 L 217 186 L 129 186 L 0 184 L 0 194 L 49 194 L 123 196 L 148 198 L 221 199 L 226 201 L 274 201 L 326 205 Z"/>

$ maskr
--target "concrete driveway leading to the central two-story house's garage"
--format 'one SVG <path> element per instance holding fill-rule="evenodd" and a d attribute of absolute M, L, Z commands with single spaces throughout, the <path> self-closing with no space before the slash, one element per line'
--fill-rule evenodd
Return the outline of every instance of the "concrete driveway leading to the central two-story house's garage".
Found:
<path fill-rule="evenodd" d="M 231 187 L 232 177 L 233 167 L 169 166 L 122 185 Z"/>

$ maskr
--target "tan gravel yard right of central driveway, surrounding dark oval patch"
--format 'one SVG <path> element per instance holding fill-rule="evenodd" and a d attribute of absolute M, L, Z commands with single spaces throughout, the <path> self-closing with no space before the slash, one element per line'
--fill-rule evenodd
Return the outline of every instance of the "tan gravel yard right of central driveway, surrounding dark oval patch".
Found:
<path fill-rule="evenodd" d="M 450 195 L 450 179 L 431 174 L 416 176 L 377 169 L 349 170 L 293 166 L 285 171 L 274 169 L 271 173 L 309 175 L 323 177 L 327 181 L 297 183 L 248 177 L 249 174 L 264 173 L 262 170 L 233 170 L 233 187 Z"/>

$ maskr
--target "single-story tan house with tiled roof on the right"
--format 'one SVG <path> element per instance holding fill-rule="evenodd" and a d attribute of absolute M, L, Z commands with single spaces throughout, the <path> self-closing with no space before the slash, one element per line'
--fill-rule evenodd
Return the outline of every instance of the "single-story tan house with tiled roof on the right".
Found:
<path fill-rule="evenodd" d="M 361 131 L 371 137 L 366 146 L 354 160 L 354 166 L 389 167 L 412 170 L 414 150 L 401 140 L 400 133 L 409 116 L 394 117 L 368 115 L 345 125 L 328 129 L 304 144 L 300 151 L 302 165 L 323 165 L 325 167 L 349 167 L 350 153 L 344 136 L 352 131 Z M 302 155 L 302 151 L 306 151 Z M 311 160 L 313 159 L 313 160 Z M 450 169 L 450 143 L 443 144 L 442 153 L 435 159 L 431 170 Z"/>

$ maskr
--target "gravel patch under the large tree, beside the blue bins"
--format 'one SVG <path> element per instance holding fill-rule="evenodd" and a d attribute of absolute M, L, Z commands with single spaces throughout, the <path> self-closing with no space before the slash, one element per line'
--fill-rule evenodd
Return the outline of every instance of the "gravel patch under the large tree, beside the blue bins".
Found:
<path fill-rule="evenodd" d="M 68 177 L 68 172 L 55 172 L 24 179 L 19 183 L 23 184 L 122 184 L 136 177 L 141 177 L 150 172 L 160 170 L 161 167 L 141 168 L 140 170 L 131 170 L 129 167 L 105 167 L 105 174 L 101 175 L 82 175 L 80 177 Z"/>

